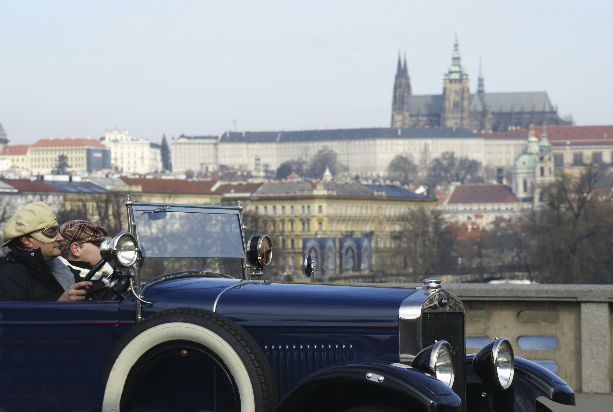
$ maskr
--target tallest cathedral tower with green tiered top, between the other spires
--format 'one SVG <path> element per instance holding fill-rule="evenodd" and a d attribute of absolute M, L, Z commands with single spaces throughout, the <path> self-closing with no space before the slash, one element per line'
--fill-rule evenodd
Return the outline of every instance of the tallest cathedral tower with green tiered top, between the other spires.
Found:
<path fill-rule="evenodd" d="M 443 77 L 441 105 L 441 127 L 470 128 L 468 72 L 460 63 L 457 33 L 455 34 L 454 53 L 451 56 L 451 67 Z"/>

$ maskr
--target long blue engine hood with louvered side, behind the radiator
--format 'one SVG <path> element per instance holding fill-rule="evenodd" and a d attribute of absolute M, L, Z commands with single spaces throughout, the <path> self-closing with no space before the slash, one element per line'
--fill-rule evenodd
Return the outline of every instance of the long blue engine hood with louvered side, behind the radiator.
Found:
<path fill-rule="evenodd" d="M 178 278 L 153 284 L 144 291 L 153 306 L 143 307 L 143 317 L 177 307 L 212 310 L 219 292 L 235 283 Z M 259 343 L 283 397 L 302 378 L 330 365 L 350 360 L 398 362 L 398 308 L 415 291 L 342 284 L 245 284 L 225 292 L 217 312 Z"/>

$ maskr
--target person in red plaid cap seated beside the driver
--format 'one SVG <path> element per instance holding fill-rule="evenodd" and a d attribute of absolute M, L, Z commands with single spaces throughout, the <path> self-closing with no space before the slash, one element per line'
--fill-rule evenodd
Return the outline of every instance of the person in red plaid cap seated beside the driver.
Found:
<path fill-rule="evenodd" d="M 80 271 L 82 278 L 101 259 L 100 244 L 102 240 L 110 239 L 107 229 L 86 220 L 71 220 L 64 223 L 59 227 L 59 234 L 63 237 L 59 244 L 62 253 L 60 259 L 67 266 Z M 103 276 L 108 277 L 112 273 L 113 268 L 106 263 L 91 280 L 96 281 Z"/>

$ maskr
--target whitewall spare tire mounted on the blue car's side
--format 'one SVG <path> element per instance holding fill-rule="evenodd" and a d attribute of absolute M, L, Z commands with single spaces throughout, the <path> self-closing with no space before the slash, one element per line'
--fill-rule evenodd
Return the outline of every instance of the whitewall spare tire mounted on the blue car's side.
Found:
<path fill-rule="evenodd" d="M 173 309 L 120 338 L 104 368 L 103 411 L 272 412 L 275 378 L 262 349 L 218 313 Z"/>

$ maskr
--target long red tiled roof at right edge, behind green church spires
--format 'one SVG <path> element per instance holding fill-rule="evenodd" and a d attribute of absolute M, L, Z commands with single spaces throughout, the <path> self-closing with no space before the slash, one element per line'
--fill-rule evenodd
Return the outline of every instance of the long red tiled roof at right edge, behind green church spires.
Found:
<path fill-rule="evenodd" d="M 543 126 L 535 127 L 536 137 L 541 139 L 542 133 Z M 556 146 L 567 140 L 573 145 L 613 145 L 613 126 L 547 126 L 547 139 Z"/>

